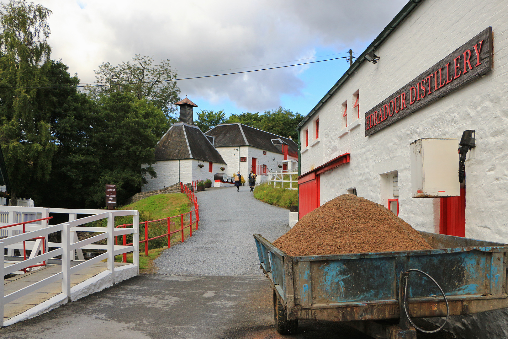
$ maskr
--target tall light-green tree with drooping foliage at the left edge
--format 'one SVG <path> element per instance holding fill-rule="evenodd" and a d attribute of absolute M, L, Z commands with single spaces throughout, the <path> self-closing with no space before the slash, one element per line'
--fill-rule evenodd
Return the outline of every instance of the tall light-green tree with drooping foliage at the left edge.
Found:
<path fill-rule="evenodd" d="M 38 87 L 48 84 L 45 72 L 51 11 L 24 0 L 0 10 L 0 143 L 11 182 L 11 195 L 30 180 L 47 180 L 57 146 L 48 112 L 41 112 Z"/>

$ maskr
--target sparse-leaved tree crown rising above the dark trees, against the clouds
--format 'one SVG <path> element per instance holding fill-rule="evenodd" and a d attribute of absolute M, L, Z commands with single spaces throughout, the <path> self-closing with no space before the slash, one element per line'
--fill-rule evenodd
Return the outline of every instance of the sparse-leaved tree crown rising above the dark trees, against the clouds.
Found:
<path fill-rule="evenodd" d="M 159 65 L 152 64 L 151 57 L 140 54 L 132 58 L 132 63 L 122 62 L 118 66 L 103 63 L 96 71 L 96 78 L 107 85 L 89 86 L 87 90 L 96 100 L 117 91 L 131 93 L 138 100 L 146 99 L 160 108 L 168 119 L 174 119 L 180 88 L 176 81 L 168 80 L 176 79 L 176 70 L 170 67 L 169 59 L 161 60 Z"/>

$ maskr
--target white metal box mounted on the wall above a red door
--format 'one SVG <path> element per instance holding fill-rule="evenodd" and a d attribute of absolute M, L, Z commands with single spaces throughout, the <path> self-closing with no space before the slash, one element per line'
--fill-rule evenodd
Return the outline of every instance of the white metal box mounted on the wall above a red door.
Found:
<path fill-rule="evenodd" d="M 460 196 L 459 139 L 418 139 L 410 147 L 413 198 Z"/>

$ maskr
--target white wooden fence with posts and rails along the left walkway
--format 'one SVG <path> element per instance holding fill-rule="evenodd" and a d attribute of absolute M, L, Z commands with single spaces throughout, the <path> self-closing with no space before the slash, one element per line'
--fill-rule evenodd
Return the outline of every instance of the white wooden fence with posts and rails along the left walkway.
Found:
<path fill-rule="evenodd" d="M 0 287 L 0 327 L 3 326 L 4 319 L 4 305 L 12 302 L 30 292 L 34 292 L 48 284 L 53 282 L 62 283 L 62 293 L 67 296 L 67 301 L 70 301 L 71 297 L 71 274 L 80 271 L 83 268 L 89 267 L 94 263 L 100 262 L 104 259 L 108 259 L 108 270 L 111 271 L 113 276 L 113 283 L 115 283 L 115 265 L 114 258 L 116 255 L 123 253 L 133 252 L 133 264 L 137 267 L 139 274 L 139 213 L 136 210 L 102 210 L 102 209 L 64 209 L 64 208 L 42 208 L 42 207 L 20 207 L 20 206 L 2 206 L 0 207 L 3 212 L 0 214 L 0 226 L 7 226 L 10 224 L 16 224 L 18 222 L 47 218 L 49 213 L 65 213 L 69 215 L 69 221 L 54 226 L 48 226 L 47 221 L 43 221 L 40 225 L 37 224 L 26 224 L 25 233 L 9 235 L 7 238 L 0 239 L 0 275 L 5 276 L 7 274 L 14 273 L 27 266 L 37 265 L 45 260 L 61 256 L 62 268 L 61 272 L 53 274 L 48 278 L 31 284 L 25 288 L 9 293 L 4 296 L 4 284 Z M 5 213 L 8 213 L 8 220 L 5 220 Z M 27 218 L 26 220 L 23 215 L 31 215 L 37 218 Z M 77 214 L 92 214 L 88 217 L 77 219 Z M 122 215 L 133 215 L 133 228 L 115 228 L 115 217 Z M 107 228 L 105 227 L 84 227 L 83 224 L 90 222 L 107 219 Z M 19 221 L 18 221 L 19 220 Z M 23 226 L 12 227 L 17 233 L 23 231 Z M 10 229 L 10 228 L 9 228 Z M 46 240 L 50 233 L 61 231 L 61 243 L 60 242 L 47 242 L 45 251 L 42 251 L 42 239 L 36 241 L 26 241 L 34 239 L 36 237 L 45 237 Z M 76 232 L 101 232 L 101 234 L 92 236 L 88 239 L 78 241 Z M 133 234 L 133 245 L 132 246 L 119 246 L 115 245 L 115 236 L 123 234 Z M 102 239 L 107 239 L 106 245 L 93 244 Z M 30 256 L 27 260 L 23 260 L 7 267 L 5 266 L 5 249 L 8 251 L 14 249 L 23 251 L 23 241 L 25 242 L 26 250 L 31 250 Z M 49 248 L 56 248 L 55 250 L 49 251 Z M 35 250 L 34 250 L 35 249 Z M 107 250 L 92 259 L 83 261 L 82 263 L 71 267 L 71 260 L 74 260 L 74 251 L 82 252 L 82 249 L 96 249 L 96 250 Z M 45 252 L 45 253 L 43 253 Z M 40 253 L 40 254 L 39 254 Z M 82 254 L 81 254 L 82 257 Z M 81 258 L 80 258 L 81 259 Z M 82 259 L 81 259 L 82 260 Z"/>

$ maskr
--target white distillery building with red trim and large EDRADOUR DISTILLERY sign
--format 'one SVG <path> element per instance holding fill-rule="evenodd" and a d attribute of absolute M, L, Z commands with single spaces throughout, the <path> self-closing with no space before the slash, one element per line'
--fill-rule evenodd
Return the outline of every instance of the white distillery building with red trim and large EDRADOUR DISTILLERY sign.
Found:
<path fill-rule="evenodd" d="M 409 1 L 300 123 L 300 218 L 352 193 L 418 230 L 508 243 L 507 18 L 506 1 Z M 496 312 L 458 326 L 506 337 Z"/>

